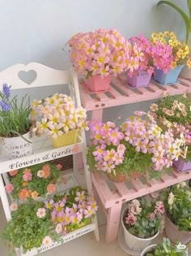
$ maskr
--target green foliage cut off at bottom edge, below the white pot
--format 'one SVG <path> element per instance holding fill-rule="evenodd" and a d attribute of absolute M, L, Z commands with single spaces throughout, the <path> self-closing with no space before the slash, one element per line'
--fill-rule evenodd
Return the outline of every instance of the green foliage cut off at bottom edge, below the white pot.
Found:
<path fill-rule="evenodd" d="M 178 249 L 177 245 L 174 247 L 168 238 L 163 237 L 163 243 L 156 245 L 152 252 L 146 256 L 185 256 L 185 249 Z"/>

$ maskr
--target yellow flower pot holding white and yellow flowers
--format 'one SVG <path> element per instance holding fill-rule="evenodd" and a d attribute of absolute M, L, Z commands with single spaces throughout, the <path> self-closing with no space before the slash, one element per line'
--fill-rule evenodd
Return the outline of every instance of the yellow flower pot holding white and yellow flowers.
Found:
<path fill-rule="evenodd" d="M 60 148 L 62 146 L 71 145 L 77 142 L 79 130 L 71 130 L 67 133 L 63 133 L 61 136 L 57 136 L 57 138 L 51 137 L 51 141 L 53 143 L 53 148 Z"/>

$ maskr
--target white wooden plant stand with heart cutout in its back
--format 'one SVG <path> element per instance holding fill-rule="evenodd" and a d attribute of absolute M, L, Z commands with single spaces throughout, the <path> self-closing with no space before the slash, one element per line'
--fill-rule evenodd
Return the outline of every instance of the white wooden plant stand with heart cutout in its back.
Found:
<path fill-rule="evenodd" d="M 23 82 L 19 79 L 19 72 L 36 72 L 36 79 L 32 81 L 30 85 Z M 6 68 L 6 70 L 0 72 L 0 85 L 6 83 L 11 85 L 11 90 L 14 89 L 36 89 L 42 86 L 50 85 L 63 85 L 63 90 L 66 85 L 69 87 L 70 96 L 73 98 L 76 106 L 81 106 L 80 96 L 79 96 L 79 84 L 78 78 L 75 72 L 73 71 L 62 71 L 55 70 L 50 67 L 46 67 L 40 63 L 28 63 L 27 65 L 15 64 L 12 67 Z M 57 92 L 54 92 L 57 93 Z M 64 93 L 64 92 L 63 92 Z M 86 165 L 86 137 L 85 132 L 82 132 L 78 137 L 78 141 L 74 145 L 68 145 L 65 147 L 53 149 L 51 141 L 48 137 L 34 137 L 33 140 L 33 154 L 9 160 L 6 158 L 6 155 L 3 154 L 1 150 L 0 156 L 0 197 L 2 199 L 2 206 L 5 211 L 7 221 L 11 220 L 11 211 L 9 208 L 9 200 L 4 189 L 3 179 L 5 182 L 8 181 L 8 171 L 20 169 L 23 167 L 29 167 L 36 163 L 45 163 L 56 158 L 62 158 L 68 155 L 73 155 L 73 164 L 74 164 L 74 180 L 78 182 L 78 163 L 77 163 L 77 152 L 74 149 L 78 149 L 78 153 L 83 155 L 83 166 L 84 166 L 84 175 L 87 185 L 88 193 L 93 193 L 91 185 L 91 175 L 87 169 Z M 75 183 L 75 182 L 74 182 Z M 34 248 L 28 251 L 26 254 L 22 253 L 21 249 L 15 249 L 18 256 L 33 256 L 40 254 L 45 250 L 52 249 L 57 245 L 62 245 L 67 241 L 71 241 L 79 236 L 83 236 L 87 232 L 94 232 L 96 241 L 100 240 L 99 230 L 97 225 L 97 218 L 92 219 L 91 223 L 79 228 L 74 232 L 70 232 L 65 236 L 62 236 L 61 241 L 53 243 L 49 247 L 41 246 L 40 248 Z"/>

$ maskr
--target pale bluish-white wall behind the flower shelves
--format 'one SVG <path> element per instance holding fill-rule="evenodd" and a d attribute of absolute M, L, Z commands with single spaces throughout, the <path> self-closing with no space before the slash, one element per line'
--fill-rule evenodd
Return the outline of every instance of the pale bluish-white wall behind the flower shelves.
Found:
<path fill-rule="evenodd" d="M 15 63 L 39 62 L 49 67 L 71 66 L 62 50 L 78 32 L 117 28 L 129 38 L 172 29 L 184 37 L 184 24 L 169 7 L 156 8 L 158 0 L 0 0 L 0 70 Z M 176 0 L 176 3 L 186 1 Z M 36 93 L 36 95 L 38 95 Z M 146 104 L 116 108 L 116 115 Z M 122 111 L 122 114 L 121 114 Z M 107 119 L 111 111 L 105 112 Z M 113 117 L 113 110 L 112 110 Z"/>

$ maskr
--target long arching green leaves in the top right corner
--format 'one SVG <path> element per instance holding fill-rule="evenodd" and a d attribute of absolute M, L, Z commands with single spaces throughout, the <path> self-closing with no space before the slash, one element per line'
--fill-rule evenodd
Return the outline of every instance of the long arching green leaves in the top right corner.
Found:
<path fill-rule="evenodd" d="M 176 10 L 182 17 L 182 19 L 185 22 L 185 29 L 186 29 L 186 37 L 185 37 L 185 41 L 186 43 L 189 40 L 189 33 L 191 31 L 191 0 L 187 0 L 187 7 L 189 9 L 189 15 L 187 15 L 185 13 L 185 11 L 182 11 L 180 7 L 178 7 L 176 4 L 174 4 L 173 2 L 171 2 L 170 0 L 168 1 L 159 1 L 157 3 L 157 6 L 161 5 L 161 4 L 166 4 L 169 7 L 172 7 L 174 10 Z"/>

